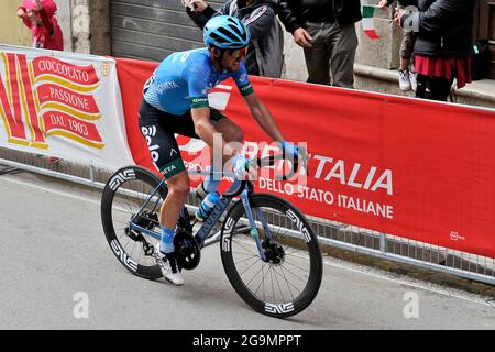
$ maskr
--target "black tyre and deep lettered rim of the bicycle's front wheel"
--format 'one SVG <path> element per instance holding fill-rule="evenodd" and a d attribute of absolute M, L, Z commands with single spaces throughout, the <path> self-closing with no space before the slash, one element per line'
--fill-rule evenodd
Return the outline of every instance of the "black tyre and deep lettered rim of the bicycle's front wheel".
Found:
<path fill-rule="evenodd" d="M 266 315 L 266 316 L 271 316 L 271 317 L 276 317 L 276 318 L 287 318 L 287 317 L 292 317 L 295 316 L 299 312 L 301 312 L 302 310 L 305 310 L 315 299 L 315 297 L 318 294 L 318 290 L 321 286 L 321 279 L 322 279 L 322 275 L 323 275 L 323 264 L 322 264 L 322 256 L 321 256 L 321 252 L 320 252 L 320 248 L 318 244 L 318 238 L 316 237 L 316 234 L 314 233 L 314 230 L 311 228 L 311 226 L 309 224 L 308 220 L 306 219 L 306 217 L 296 208 L 294 207 L 290 202 L 286 201 L 285 199 L 274 196 L 274 195 L 265 195 L 265 194 L 253 194 L 250 196 L 250 205 L 252 209 L 260 209 L 263 212 L 266 213 L 263 215 L 263 218 L 265 218 L 267 216 L 271 216 L 271 213 L 273 213 L 273 219 L 276 219 L 276 213 L 278 212 L 279 216 L 279 220 L 282 221 L 282 216 L 287 216 L 287 218 L 289 219 L 289 221 L 286 221 L 286 227 L 287 228 L 293 228 L 295 230 L 288 230 L 287 233 L 290 233 L 286 240 L 283 240 L 283 242 L 280 243 L 288 243 L 288 244 L 280 244 L 282 248 L 285 246 L 285 249 L 290 248 L 292 242 L 295 242 L 296 238 L 298 238 L 298 240 L 302 240 L 302 241 L 298 241 L 297 244 L 295 245 L 296 248 L 302 248 L 302 252 L 304 251 L 308 251 L 308 265 L 309 265 L 309 275 L 307 278 L 307 283 L 304 285 L 304 288 L 301 288 L 300 294 L 297 297 L 292 297 L 293 299 L 289 299 L 289 301 L 282 301 L 282 302 L 276 302 L 276 301 L 270 301 L 270 299 L 267 299 L 266 297 L 258 297 L 257 290 L 253 292 L 254 289 L 250 287 L 251 283 L 245 283 L 245 279 L 243 279 L 241 277 L 241 274 L 238 271 L 237 267 L 237 263 L 234 260 L 234 253 L 235 253 L 235 237 L 239 235 L 239 244 L 238 248 L 241 249 L 244 245 L 241 242 L 245 242 L 249 241 L 250 235 L 245 235 L 244 238 L 241 235 L 241 232 L 237 232 L 235 229 L 241 229 L 241 226 L 238 226 L 240 222 L 239 220 L 243 217 L 243 215 L 245 215 L 245 210 L 244 210 L 244 206 L 242 204 L 242 201 L 238 201 L 237 204 L 234 204 L 232 206 L 232 208 L 230 209 L 229 213 L 226 217 L 226 221 L 223 223 L 222 227 L 222 232 L 221 232 L 221 240 L 220 240 L 220 253 L 221 253 L 221 258 L 222 258 L 222 264 L 223 264 L 223 268 L 226 271 L 226 274 L 231 283 L 231 285 L 233 286 L 233 288 L 235 289 L 235 292 L 239 294 L 239 296 L 248 304 L 250 305 L 252 308 L 254 308 L 254 310 Z M 242 218 L 243 221 L 246 221 L 246 218 Z M 261 219 L 261 218 L 260 218 Z M 257 220 L 257 223 L 260 223 L 260 219 Z M 275 221 L 275 220 L 274 220 Z M 268 222 L 268 221 L 266 221 Z M 268 223 L 270 227 L 272 227 L 273 229 L 276 228 L 282 228 L 279 224 L 274 226 L 273 223 Z M 258 226 L 256 226 L 258 227 Z M 243 231 L 245 232 L 245 226 L 243 226 Z M 299 231 L 299 234 L 296 234 L 297 231 Z M 273 237 L 275 238 L 275 233 L 273 233 Z M 266 238 L 266 237 L 265 237 Z M 254 242 L 253 239 L 251 239 L 252 242 Z M 244 243 L 244 244 L 245 244 Z M 280 251 L 280 252 L 284 252 Z M 254 253 L 256 253 L 256 251 L 254 251 Z M 285 252 L 284 252 L 285 253 Z M 252 254 L 252 253 L 251 253 Z M 256 253 L 257 254 L 257 253 Z M 263 272 L 263 267 L 264 265 L 270 266 L 267 267 L 267 272 L 271 271 L 275 271 L 277 267 L 280 267 L 280 272 L 283 274 L 277 274 L 275 273 L 275 275 L 272 275 L 272 286 L 274 288 L 274 290 L 276 290 L 276 288 L 274 287 L 274 277 L 275 280 L 278 283 L 278 288 L 280 288 L 279 286 L 279 282 L 277 277 L 285 277 L 287 278 L 288 274 L 285 275 L 284 274 L 284 264 L 287 264 L 287 258 L 288 258 L 288 253 L 284 254 L 286 257 L 286 262 L 282 263 L 282 264 L 272 264 L 272 263 L 265 263 L 263 262 L 258 255 L 257 255 L 257 261 L 261 264 L 262 267 L 262 273 Z M 250 256 L 250 254 L 246 254 L 246 256 Z M 298 255 L 295 255 L 296 260 L 298 258 Z M 300 257 L 305 257 L 304 255 L 301 255 Z M 252 258 L 254 262 L 251 266 L 257 266 L 256 263 L 256 258 Z M 245 265 L 249 265 L 250 258 L 245 258 L 242 260 L 240 262 L 246 262 Z M 239 262 L 239 265 L 240 265 Z M 292 264 L 294 265 L 294 264 Z M 299 265 L 299 264 L 298 264 Z M 295 265 L 295 266 L 298 266 Z M 287 265 L 288 267 L 288 265 Z M 290 266 L 292 267 L 292 266 Z M 248 268 L 249 271 L 249 268 Z M 257 274 L 256 274 L 257 275 Z M 279 276 L 277 276 L 279 275 Z M 295 275 L 297 276 L 297 275 Z M 251 279 L 253 280 L 254 277 Z M 263 278 L 263 290 L 265 289 L 265 278 Z M 268 283 L 270 284 L 270 283 Z M 261 285 L 261 284 L 260 284 Z M 268 285 L 270 286 L 270 285 Z M 288 290 L 290 290 L 290 285 L 287 284 Z M 258 287 L 260 289 L 260 287 Z M 284 298 L 284 290 L 280 288 L 280 294 L 282 294 L 282 300 L 287 300 Z M 290 293 L 292 294 L 292 293 Z M 265 294 L 263 294 L 265 295 Z M 270 296 L 270 295 L 267 295 Z M 273 294 L 273 300 L 275 300 L 275 294 Z"/>

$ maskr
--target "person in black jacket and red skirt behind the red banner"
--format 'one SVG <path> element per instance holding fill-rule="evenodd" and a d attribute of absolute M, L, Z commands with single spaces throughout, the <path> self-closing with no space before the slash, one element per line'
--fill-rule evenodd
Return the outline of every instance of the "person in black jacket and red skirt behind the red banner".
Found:
<path fill-rule="evenodd" d="M 416 97 L 447 101 L 453 80 L 471 82 L 471 50 L 476 0 L 418 0 L 418 12 L 396 9 L 395 21 L 417 31 Z"/>

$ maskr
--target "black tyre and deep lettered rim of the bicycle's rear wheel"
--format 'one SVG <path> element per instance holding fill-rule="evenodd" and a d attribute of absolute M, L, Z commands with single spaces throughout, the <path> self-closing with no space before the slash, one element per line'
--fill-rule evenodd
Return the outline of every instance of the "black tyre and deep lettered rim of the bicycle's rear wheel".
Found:
<path fill-rule="evenodd" d="M 116 195 L 118 195 L 118 193 L 121 189 L 125 189 L 127 184 L 142 183 L 143 187 L 147 186 L 146 189 L 150 189 L 147 193 L 150 195 L 151 190 L 155 189 L 158 186 L 160 182 L 161 182 L 160 178 L 155 174 L 153 174 L 152 172 L 150 172 L 143 167 L 140 167 L 140 166 L 123 167 L 123 168 L 119 169 L 118 172 L 116 172 L 109 178 L 109 180 L 103 189 L 102 197 L 101 197 L 101 208 L 100 208 L 101 222 L 103 226 L 103 232 L 107 238 L 107 242 L 110 245 L 112 253 L 116 255 L 116 257 L 119 260 L 119 262 L 127 270 L 129 270 L 132 274 L 134 274 L 139 277 L 147 278 L 147 279 L 156 279 L 156 278 L 160 278 L 163 276 L 162 272 L 160 270 L 160 266 L 156 263 L 154 263 L 153 260 L 150 260 L 152 262 L 151 265 L 144 265 L 144 264 L 140 264 L 139 263 L 140 261 L 139 260 L 136 261 L 133 257 L 133 252 L 135 250 L 135 245 L 136 244 L 141 245 L 141 243 L 139 243 L 136 241 L 134 241 L 135 243 L 134 243 L 132 253 L 129 253 L 129 251 L 127 251 L 127 245 L 124 245 L 121 242 L 121 239 L 128 240 L 129 237 L 120 233 L 121 229 L 116 231 L 114 222 L 117 220 L 113 219 L 114 211 L 112 211 L 112 210 L 114 208 L 117 208 L 117 206 L 118 206 L 117 200 L 116 200 Z M 132 188 L 131 188 L 131 190 L 132 190 Z M 138 190 L 135 190 L 135 191 L 138 191 Z M 160 194 L 160 197 L 162 200 L 166 198 L 167 188 L 165 185 L 158 190 L 158 194 Z M 119 194 L 119 196 L 120 196 L 120 194 Z M 141 206 L 143 204 L 144 204 L 144 200 L 141 200 Z M 138 210 L 135 212 L 138 212 L 140 209 L 138 200 L 136 200 L 136 209 Z M 123 207 L 121 212 L 123 212 L 124 210 L 127 210 L 127 209 Z M 127 215 L 122 216 L 124 219 L 127 219 L 127 221 L 131 220 L 131 217 L 132 217 L 131 210 L 132 210 L 131 207 L 129 207 L 129 218 L 127 218 Z M 120 234 L 120 237 L 118 234 Z M 128 243 L 130 241 L 132 241 L 132 239 L 129 238 Z"/>

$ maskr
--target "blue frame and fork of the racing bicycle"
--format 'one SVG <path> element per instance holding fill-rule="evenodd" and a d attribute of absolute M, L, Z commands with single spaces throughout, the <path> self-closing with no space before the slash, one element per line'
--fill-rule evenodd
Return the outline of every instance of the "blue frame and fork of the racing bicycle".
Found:
<path fill-rule="evenodd" d="M 131 230 L 135 230 L 135 231 L 140 231 L 142 233 L 145 233 L 156 240 L 161 240 L 162 239 L 162 234 L 160 232 L 155 232 L 148 229 L 145 229 L 143 227 L 140 227 L 139 224 L 135 223 L 135 219 L 141 215 L 141 212 L 146 208 L 146 206 L 152 201 L 153 197 L 155 197 L 155 195 L 158 193 L 158 190 L 161 189 L 161 187 L 163 187 L 165 183 L 165 179 L 163 179 L 158 186 L 151 193 L 151 195 L 147 197 L 146 201 L 143 204 L 143 206 L 141 207 L 141 209 L 138 211 L 138 213 L 135 213 L 130 223 L 129 223 L 129 228 Z M 235 194 L 239 193 L 242 187 L 242 182 L 239 179 L 235 179 L 234 183 L 232 184 L 232 186 L 229 188 L 229 194 Z M 250 200 L 249 200 L 249 195 L 250 195 L 250 190 L 249 187 L 245 186 L 244 189 L 242 190 L 241 194 L 241 199 L 242 199 L 242 204 L 244 206 L 244 210 L 245 213 L 248 215 L 248 219 L 250 222 L 250 227 L 251 227 L 251 235 L 253 237 L 253 239 L 256 242 L 256 248 L 258 250 L 260 253 L 260 257 L 264 261 L 265 260 L 265 253 L 263 251 L 262 244 L 261 244 L 261 240 L 260 240 L 260 233 L 256 229 L 256 224 L 254 221 L 254 216 L 253 212 L 251 210 L 251 205 L 250 205 Z M 211 231 L 213 230 L 215 224 L 220 220 L 220 218 L 222 217 L 222 215 L 226 212 L 227 208 L 229 207 L 230 202 L 232 201 L 233 198 L 230 197 L 221 197 L 220 201 L 217 204 L 217 206 L 213 208 L 213 210 L 210 212 L 210 215 L 208 216 L 208 218 L 205 220 L 204 224 L 201 226 L 201 228 L 198 230 L 198 232 L 195 235 L 196 241 L 198 242 L 198 245 L 200 249 L 202 249 L 202 246 L 205 245 L 205 241 L 209 238 Z M 155 206 L 156 207 L 156 206 Z M 263 228 L 265 229 L 265 232 L 268 237 L 268 239 L 272 239 L 272 232 L 270 230 L 270 227 L 267 226 L 262 211 L 260 209 L 256 209 L 256 213 L 257 217 L 263 226 Z"/>

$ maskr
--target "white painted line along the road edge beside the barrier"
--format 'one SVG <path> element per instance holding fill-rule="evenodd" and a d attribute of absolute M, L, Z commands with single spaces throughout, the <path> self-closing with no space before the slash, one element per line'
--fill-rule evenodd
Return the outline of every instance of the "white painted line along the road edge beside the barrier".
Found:
<path fill-rule="evenodd" d="M 30 188 L 35 188 L 35 189 L 51 193 L 54 195 L 58 195 L 58 196 L 72 198 L 75 200 L 86 201 L 86 202 L 89 202 L 92 205 L 100 206 L 100 202 L 97 200 L 89 199 L 89 198 L 82 197 L 82 196 L 75 196 L 69 193 L 65 193 L 65 191 L 61 191 L 61 190 L 55 190 L 50 187 L 44 187 L 44 186 L 35 185 L 32 183 L 28 183 L 28 182 L 12 179 L 10 177 L 2 177 L 0 179 L 7 180 L 12 184 L 16 184 L 16 185 L 21 185 L 21 186 L 25 186 L 25 187 L 30 187 Z M 122 210 L 124 210 L 124 209 L 122 209 Z M 296 255 L 296 254 L 294 254 L 294 255 Z M 307 256 L 302 256 L 302 255 L 300 255 L 300 256 L 308 258 Z M 463 300 L 468 300 L 468 301 L 475 302 L 475 304 L 481 304 L 483 306 L 488 306 L 488 307 L 495 309 L 495 307 L 493 305 L 491 305 L 491 301 L 488 298 L 483 298 L 482 296 L 480 296 L 477 294 L 471 294 L 471 293 L 462 292 L 462 290 L 459 290 L 455 288 L 446 288 L 444 286 L 433 284 L 433 283 L 428 283 L 425 280 L 420 280 L 417 278 L 406 276 L 406 275 L 393 274 L 393 273 L 388 273 L 388 272 L 373 268 L 370 266 L 364 266 L 364 265 L 360 265 L 360 264 L 355 264 L 352 262 L 346 262 L 346 261 L 342 261 L 342 260 L 338 260 L 338 258 L 328 258 L 327 257 L 327 258 L 323 258 L 323 263 L 326 265 L 333 266 L 337 268 L 354 272 L 354 273 L 366 275 L 366 276 L 374 277 L 374 278 L 380 278 L 383 280 L 394 282 L 396 284 L 415 287 L 417 289 L 428 290 L 428 292 L 431 292 L 435 294 L 439 294 L 439 295 L 443 295 L 443 296 L 448 296 L 448 297 L 452 297 L 452 298 L 458 298 L 458 299 L 463 299 Z"/>

